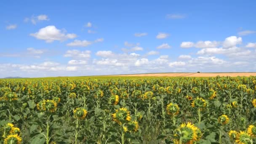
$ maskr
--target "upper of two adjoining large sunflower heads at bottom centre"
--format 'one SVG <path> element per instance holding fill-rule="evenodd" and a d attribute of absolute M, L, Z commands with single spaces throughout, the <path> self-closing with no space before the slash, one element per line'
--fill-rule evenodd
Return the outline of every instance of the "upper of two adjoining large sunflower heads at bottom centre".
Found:
<path fill-rule="evenodd" d="M 112 114 L 112 118 L 116 123 L 120 125 L 122 123 L 131 121 L 130 112 L 126 108 L 116 109 L 115 113 Z"/>

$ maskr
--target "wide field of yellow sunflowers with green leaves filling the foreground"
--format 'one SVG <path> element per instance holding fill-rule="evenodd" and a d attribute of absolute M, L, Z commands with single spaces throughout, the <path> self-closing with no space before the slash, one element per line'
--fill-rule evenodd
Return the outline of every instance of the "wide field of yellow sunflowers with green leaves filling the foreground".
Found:
<path fill-rule="evenodd" d="M 0 80 L 0 144 L 256 144 L 256 77 Z"/>

